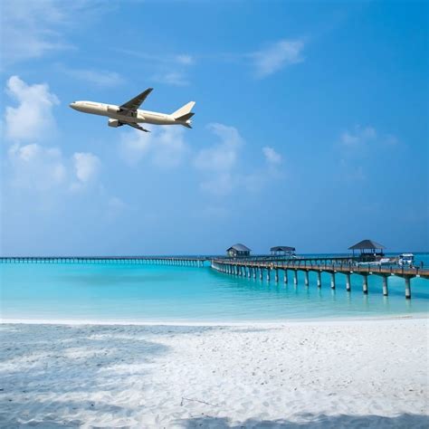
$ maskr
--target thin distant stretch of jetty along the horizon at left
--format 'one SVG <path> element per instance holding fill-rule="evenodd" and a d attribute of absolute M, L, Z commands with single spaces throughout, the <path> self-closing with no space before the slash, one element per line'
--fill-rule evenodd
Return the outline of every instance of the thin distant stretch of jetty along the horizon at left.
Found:
<path fill-rule="evenodd" d="M 0 263 L 133 263 L 203 267 L 206 256 L 2 256 Z"/>

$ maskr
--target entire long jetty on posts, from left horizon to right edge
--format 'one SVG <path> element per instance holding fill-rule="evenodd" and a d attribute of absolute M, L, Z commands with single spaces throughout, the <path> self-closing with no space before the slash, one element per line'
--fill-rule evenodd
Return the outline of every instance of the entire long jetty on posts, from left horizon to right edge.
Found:
<path fill-rule="evenodd" d="M 284 251 L 283 251 L 284 253 Z M 124 263 L 124 264 L 159 264 L 205 267 L 209 261 L 212 269 L 217 272 L 241 277 L 271 281 L 280 281 L 280 274 L 285 284 L 289 281 L 288 272 L 293 274 L 293 283 L 298 284 L 298 273 L 303 272 L 305 286 L 310 285 L 310 272 L 317 275 L 317 286 L 321 288 L 321 274 L 329 273 L 330 287 L 336 289 L 336 275 L 346 276 L 346 291 L 351 291 L 351 275 L 362 277 L 362 291 L 368 293 L 368 276 L 377 275 L 383 281 L 383 295 L 388 295 L 388 279 L 391 276 L 401 277 L 405 281 L 405 298 L 411 299 L 411 280 L 415 277 L 429 279 L 429 269 L 426 267 L 398 266 L 395 263 L 361 264 L 359 257 L 344 256 L 314 256 L 290 257 L 284 254 L 253 255 L 244 257 L 229 256 L 1 256 L 0 263 Z"/>

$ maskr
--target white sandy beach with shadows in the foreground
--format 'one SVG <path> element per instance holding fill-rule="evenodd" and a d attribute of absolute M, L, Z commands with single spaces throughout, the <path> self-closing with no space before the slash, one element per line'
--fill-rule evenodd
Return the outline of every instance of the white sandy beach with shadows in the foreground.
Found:
<path fill-rule="evenodd" d="M 429 425 L 428 319 L 3 324 L 0 425 Z"/>

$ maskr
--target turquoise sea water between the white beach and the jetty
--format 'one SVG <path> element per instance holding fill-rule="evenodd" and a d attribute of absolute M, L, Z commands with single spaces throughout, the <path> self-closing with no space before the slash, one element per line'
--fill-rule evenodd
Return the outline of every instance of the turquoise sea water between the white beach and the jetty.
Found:
<path fill-rule="evenodd" d="M 416 263 L 429 265 L 429 253 Z M 206 262 L 206 265 L 208 262 Z M 331 291 L 329 275 L 310 273 L 310 286 L 284 285 L 215 272 L 210 267 L 123 263 L 0 263 L 2 319 L 81 319 L 91 321 L 234 322 L 248 320 L 335 319 L 428 314 L 429 280 L 413 279 L 412 300 L 405 300 L 404 279 L 389 278 L 383 297 L 381 278 L 337 274 Z"/>

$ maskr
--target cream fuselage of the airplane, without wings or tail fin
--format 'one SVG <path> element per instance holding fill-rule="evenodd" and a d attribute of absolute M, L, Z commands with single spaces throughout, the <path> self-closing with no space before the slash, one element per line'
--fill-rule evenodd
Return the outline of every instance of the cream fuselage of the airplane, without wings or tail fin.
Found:
<path fill-rule="evenodd" d="M 110 119 L 118 119 L 124 122 L 147 123 L 154 125 L 186 125 L 188 120 L 177 120 L 173 115 L 158 113 L 157 111 L 135 110 L 132 112 L 121 112 L 120 107 L 115 104 L 98 103 L 95 101 L 74 101 L 70 104 L 71 109 L 92 115 L 106 116 Z"/>

